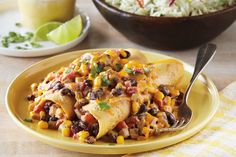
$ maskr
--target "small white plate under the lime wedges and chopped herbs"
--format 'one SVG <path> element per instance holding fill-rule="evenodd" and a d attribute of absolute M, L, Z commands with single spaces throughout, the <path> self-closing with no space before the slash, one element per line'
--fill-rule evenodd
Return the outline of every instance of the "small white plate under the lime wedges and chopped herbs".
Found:
<path fill-rule="evenodd" d="M 40 42 L 40 45 L 43 46 L 42 48 L 32 48 L 29 50 L 18 50 L 15 48 L 16 45 L 14 45 L 14 47 L 4 48 L 0 42 L 0 54 L 13 57 L 39 57 L 57 54 L 78 45 L 88 35 L 91 22 L 88 15 L 81 12 L 78 8 L 76 8 L 75 14 L 80 14 L 83 20 L 83 31 L 75 40 L 64 45 L 57 45 L 50 41 Z M 0 2 L 0 21 L 0 41 L 2 40 L 1 37 L 7 35 L 10 31 L 23 34 L 25 32 L 33 32 L 30 29 L 15 26 L 16 23 L 20 22 L 20 13 L 17 9 L 16 3 L 12 3 L 12 1 Z"/>

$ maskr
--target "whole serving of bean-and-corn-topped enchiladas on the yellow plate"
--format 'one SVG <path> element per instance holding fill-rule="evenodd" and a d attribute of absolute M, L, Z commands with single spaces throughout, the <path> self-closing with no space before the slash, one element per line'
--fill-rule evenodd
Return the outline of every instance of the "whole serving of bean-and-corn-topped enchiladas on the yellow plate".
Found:
<path fill-rule="evenodd" d="M 147 63 L 133 49 L 86 53 L 31 85 L 25 122 L 89 144 L 148 139 L 178 120 L 183 76 L 181 62 Z"/>

